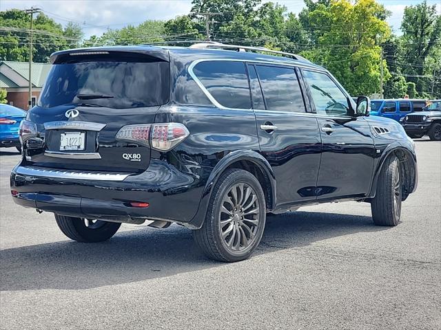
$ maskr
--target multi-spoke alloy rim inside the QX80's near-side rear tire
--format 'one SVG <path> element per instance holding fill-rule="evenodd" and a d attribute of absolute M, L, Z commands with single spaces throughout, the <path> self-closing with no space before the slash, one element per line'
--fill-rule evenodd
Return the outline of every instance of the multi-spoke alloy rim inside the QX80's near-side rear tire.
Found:
<path fill-rule="evenodd" d="M 256 241 L 260 219 L 256 192 L 245 183 L 235 184 L 220 206 L 220 233 L 232 252 L 243 252 Z"/>

